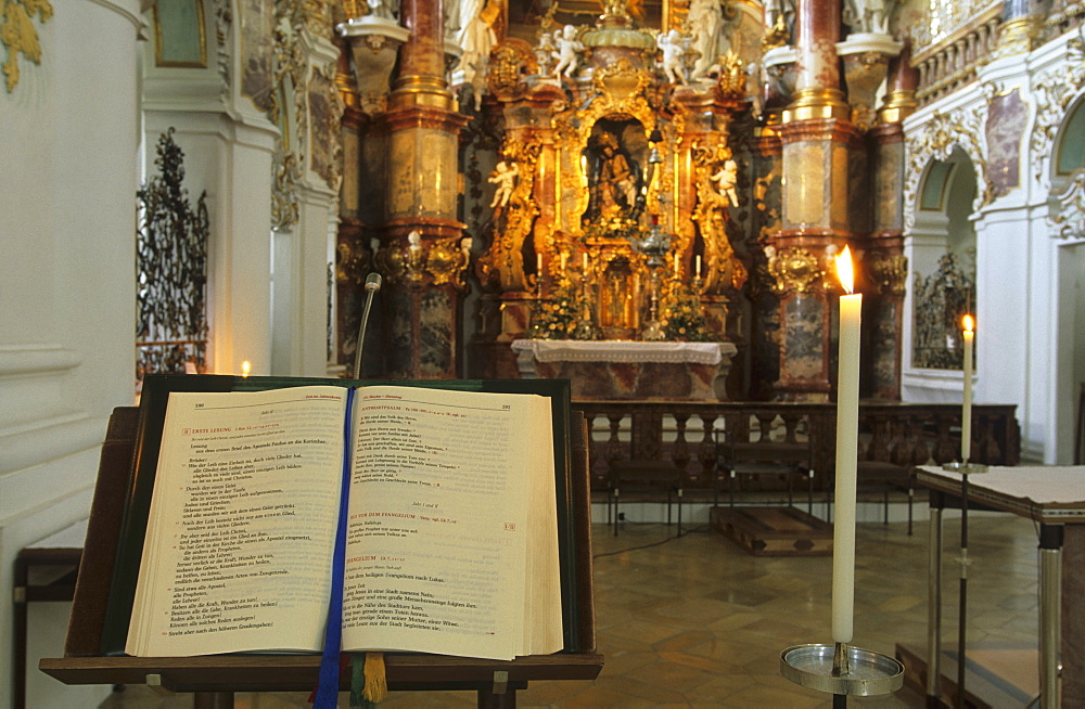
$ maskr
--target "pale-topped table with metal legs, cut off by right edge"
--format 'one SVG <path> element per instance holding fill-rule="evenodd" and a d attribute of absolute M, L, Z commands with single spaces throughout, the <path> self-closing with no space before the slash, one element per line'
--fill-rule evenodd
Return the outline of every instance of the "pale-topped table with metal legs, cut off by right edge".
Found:
<path fill-rule="evenodd" d="M 961 475 L 919 467 L 916 481 L 931 489 L 930 602 L 928 606 L 928 701 L 940 694 L 942 510 L 960 497 Z M 969 503 L 1010 512 L 1039 524 L 1039 686 L 1044 709 L 1085 706 L 1085 465 L 992 466 L 968 478 Z M 1061 616 L 1061 622 L 1060 622 Z"/>

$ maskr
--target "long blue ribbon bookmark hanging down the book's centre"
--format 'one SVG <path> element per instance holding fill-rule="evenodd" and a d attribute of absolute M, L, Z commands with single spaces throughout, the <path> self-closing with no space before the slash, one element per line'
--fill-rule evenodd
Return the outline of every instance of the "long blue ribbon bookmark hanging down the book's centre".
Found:
<path fill-rule="evenodd" d="M 340 489 L 340 517 L 332 553 L 332 591 L 328 602 L 328 627 L 324 650 L 317 680 L 316 709 L 335 709 L 339 702 L 340 646 L 343 636 L 343 576 L 346 567 L 346 521 L 350 492 L 350 422 L 354 418 L 354 389 L 346 390 L 346 416 L 343 422 L 343 481 Z"/>

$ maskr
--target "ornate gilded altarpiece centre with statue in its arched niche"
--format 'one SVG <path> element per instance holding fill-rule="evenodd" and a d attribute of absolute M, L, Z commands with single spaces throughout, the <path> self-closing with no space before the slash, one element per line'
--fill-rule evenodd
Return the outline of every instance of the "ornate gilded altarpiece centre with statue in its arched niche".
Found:
<path fill-rule="evenodd" d="M 714 373 L 690 375 L 700 384 L 707 377 L 707 388 L 694 382 L 666 390 L 726 398 L 713 379 L 726 376 L 740 339 L 728 304 L 746 280 L 727 233 L 737 206 L 728 127 L 746 108 L 745 74 L 722 56 L 713 77 L 668 83 L 655 65 L 656 33 L 636 28 L 622 5 L 609 4 L 595 27 L 582 28 L 585 64 L 571 75 L 551 76 L 546 56 L 526 43 L 506 42 L 492 57 L 505 169 L 490 181 L 508 194 L 495 196 L 490 246 L 477 266 L 488 291 L 475 348 L 486 364 L 477 374 L 515 375 L 516 353 L 523 364 L 533 349 L 527 341 L 595 341 L 587 349 L 597 361 L 626 365 L 638 362 L 629 340 L 644 343 L 656 363 L 667 356 L 649 352 L 659 349 L 649 343 L 714 343 L 722 360 Z M 502 177 L 513 171 L 514 179 Z M 624 345 L 609 348 L 612 341 Z M 609 350 L 621 350 L 620 359 Z M 591 357 L 585 351 L 579 361 Z M 694 364 L 671 357 L 687 370 Z M 551 372 L 537 366 L 535 374 Z M 531 375 L 524 366 L 520 373 Z M 638 376 L 624 366 L 611 373 L 612 390 L 595 396 L 640 396 L 630 383 Z"/>

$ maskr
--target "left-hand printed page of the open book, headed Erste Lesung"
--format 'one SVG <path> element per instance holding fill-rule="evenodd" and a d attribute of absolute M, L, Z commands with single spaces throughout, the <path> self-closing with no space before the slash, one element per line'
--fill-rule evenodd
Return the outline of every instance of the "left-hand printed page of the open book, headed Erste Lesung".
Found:
<path fill-rule="evenodd" d="M 320 649 L 346 397 L 170 395 L 128 654 Z"/>

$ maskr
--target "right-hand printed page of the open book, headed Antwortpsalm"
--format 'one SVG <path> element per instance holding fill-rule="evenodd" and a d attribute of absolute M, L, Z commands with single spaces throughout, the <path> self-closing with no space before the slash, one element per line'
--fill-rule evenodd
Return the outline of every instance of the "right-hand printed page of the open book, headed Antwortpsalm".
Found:
<path fill-rule="evenodd" d="M 522 654 L 526 427 L 539 399 L 358 390 L 344 648 Z"/>

